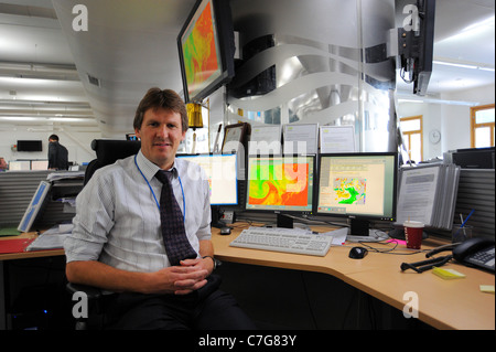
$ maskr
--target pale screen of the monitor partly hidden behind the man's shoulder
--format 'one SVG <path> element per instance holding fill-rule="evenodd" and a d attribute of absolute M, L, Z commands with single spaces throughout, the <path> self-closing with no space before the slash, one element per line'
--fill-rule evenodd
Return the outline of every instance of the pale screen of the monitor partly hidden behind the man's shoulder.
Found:
<path fill-rule="evenodd" d="M 236 154 L 177 156 L 200 164 L 205 170 L 211 186 L 212 205 L 238 204 Z"/>

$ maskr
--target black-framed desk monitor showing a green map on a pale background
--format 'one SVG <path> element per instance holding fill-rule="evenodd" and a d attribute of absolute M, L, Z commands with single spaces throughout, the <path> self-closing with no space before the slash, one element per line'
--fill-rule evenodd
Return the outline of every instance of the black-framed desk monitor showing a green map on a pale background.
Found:
<path fill-rule="evenodd" d="M 319 159 L 316 214 L 351 218 L 351 236 L 369 236 L 370 221 L 396 221 L 398 154 L 333 153 Z"/>

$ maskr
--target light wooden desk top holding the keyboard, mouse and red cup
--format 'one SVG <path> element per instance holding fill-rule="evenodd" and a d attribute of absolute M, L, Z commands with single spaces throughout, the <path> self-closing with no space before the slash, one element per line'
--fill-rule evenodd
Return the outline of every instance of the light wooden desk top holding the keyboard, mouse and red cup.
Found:
<path fill-rule="evenodd" d="M 444 268 L 465 274 L 463 279 L 443 280 L 430 271 L 417 274 L 400 270 L 403 262 L 424 260 L 425 255 L 422 253 L 403 256 L 369 252 L 364 259 L 357 260 L 348 258 L 349 246 L 332 247 L 325 257 L 229 247 L 240 231 L 235 228 L 229 236 L 213 231 L 212 239 L 218 259 L 332 275 L 400 311 L 409 301 L 403 300 L 403 295 L 416 292 L 419 319 L 436 329 L 495 329 L 494 295 L 479 290 L 479 285 L 494 285 L 493 274 L 456 263 L 450 263 Z M 422 248 L 441 244 L 428 239 Z"/>

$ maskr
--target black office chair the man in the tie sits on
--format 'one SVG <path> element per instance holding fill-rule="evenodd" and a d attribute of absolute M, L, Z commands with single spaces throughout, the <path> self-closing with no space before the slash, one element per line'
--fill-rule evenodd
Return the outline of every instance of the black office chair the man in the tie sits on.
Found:
<path fill-rule="evenodd" d="M 91 149 L 95 150 L 97 158 L 88 163 L 85 171 L 84 184 L 89 181 L 96 170 L 105 166 L 116 162 L 118 159 L 138 153 L 141 148 L 139 140 L 112 140 L 112 139 L 94 139 Z M 104 295 L 100 289 L 68 282 L 66 289 L 71 295 L 75 292 L 84 292 L 88 298 L 88 311 L 94 314 L 104 314 Z M 86 330 L 89 327 L 88 319 L 76 318 L 76 330 Z M 101 328 L 101 326 L 100 326 Z"/>

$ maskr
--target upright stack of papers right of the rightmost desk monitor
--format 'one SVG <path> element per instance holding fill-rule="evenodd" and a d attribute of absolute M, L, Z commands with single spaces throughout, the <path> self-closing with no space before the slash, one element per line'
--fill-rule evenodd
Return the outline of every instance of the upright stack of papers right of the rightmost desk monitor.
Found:
<path fill-rule="evenodd" d="M 397 223 L 423 222 L 427 227 L 451 230 L 461 168 L 428 164 L 400 170 Z"/>

